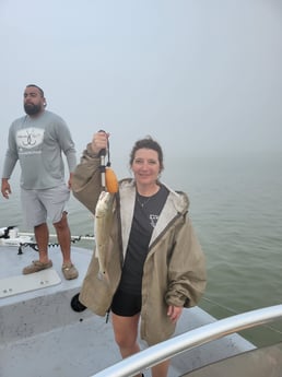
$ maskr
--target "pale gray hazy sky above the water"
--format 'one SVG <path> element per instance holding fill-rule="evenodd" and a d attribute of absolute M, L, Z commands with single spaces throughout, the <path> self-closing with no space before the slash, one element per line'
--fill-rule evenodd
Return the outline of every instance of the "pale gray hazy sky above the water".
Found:
<path fill-rule="evenodd" d="M 99 128 L 124 164 L 146 134 L 166 156 L 281 153 L 282 1 L 1 0 L 0 46 L 1 165 L 28 83 L 78 156 Z"/>

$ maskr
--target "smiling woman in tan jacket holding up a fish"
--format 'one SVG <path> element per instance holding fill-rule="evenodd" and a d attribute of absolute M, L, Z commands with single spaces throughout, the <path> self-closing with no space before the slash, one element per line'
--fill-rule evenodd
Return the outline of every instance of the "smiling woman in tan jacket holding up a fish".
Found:
<path fill-rule="evenodd" d="M 102 190 L 99 152 L 108 134 L 97 132 L 73 174 L 73 195 L 93 213 Z M 111 310 L 115 340 L 122 358 L 168 339 L 184 307 L 195 306 L 205 287 L 201 247 L 187 216 L 189 201 L 158 179 L 163 152 L 151 138 L 137 141 L 130 154 L 134 178 L 119 182 L 110 228 L 108 283 L 98 278 L 93 256 L 80 302 L 99 316 Z M 166 377 L 169 362 L 152 367 L 153 377 Z M 138 375 L 142 376 L 142 375 Z"/>

